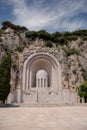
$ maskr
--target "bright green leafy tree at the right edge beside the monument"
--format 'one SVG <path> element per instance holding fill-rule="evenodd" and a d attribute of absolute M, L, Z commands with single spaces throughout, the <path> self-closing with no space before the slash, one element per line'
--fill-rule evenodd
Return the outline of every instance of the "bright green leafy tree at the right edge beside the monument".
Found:
<path fill-rule="evenodd" d="M 78 88 L 78 95 L 84 98 L 85 102 L 87 102 L 87 81 L 84 81 Z"/>

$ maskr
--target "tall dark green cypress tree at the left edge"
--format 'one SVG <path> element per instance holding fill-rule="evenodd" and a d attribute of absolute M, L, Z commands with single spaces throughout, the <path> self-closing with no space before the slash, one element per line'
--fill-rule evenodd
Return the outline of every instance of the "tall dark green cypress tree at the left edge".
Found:
<path fill-rule="evenodd" d="M 0 63 L 0 100 L 5 102 L 10 92 L 11 55 L 6 56 Z"/>

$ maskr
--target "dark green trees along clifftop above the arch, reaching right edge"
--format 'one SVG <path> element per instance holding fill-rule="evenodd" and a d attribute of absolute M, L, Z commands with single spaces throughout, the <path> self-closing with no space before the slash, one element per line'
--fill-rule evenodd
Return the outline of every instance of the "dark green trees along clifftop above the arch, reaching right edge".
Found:
<path fill-rule="evenodd" d="M 55 32 L 48 33 L 45 30 L 28 31 L 26 37 L 34 40 L 36 37 L 41 38 L 45 41 L 52 41 L 56 45 L 66 45 L 69 41 L 76 41 L 79 37 L 83 40 L 87 39 L 87 30 L 78 30 L 75 32 Z"/>

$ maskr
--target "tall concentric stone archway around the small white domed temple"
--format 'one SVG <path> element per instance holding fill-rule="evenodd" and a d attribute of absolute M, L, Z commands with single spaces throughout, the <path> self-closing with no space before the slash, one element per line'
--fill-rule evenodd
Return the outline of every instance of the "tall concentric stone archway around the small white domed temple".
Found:
<path fill-rule="evenodd" d="M 37 52 L 28 57 L 23 67 L 23 91 L 36 88 L 36 73 L 45 70 L 48 74 L 50 90 L 61 89 L 61 66 L 57 59 L 49 53 Z"/>

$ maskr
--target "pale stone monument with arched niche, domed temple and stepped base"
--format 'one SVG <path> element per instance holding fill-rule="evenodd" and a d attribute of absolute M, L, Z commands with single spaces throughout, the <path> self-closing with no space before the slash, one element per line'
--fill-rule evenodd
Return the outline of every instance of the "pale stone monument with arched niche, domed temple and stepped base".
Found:
<path fill-rule="evenodd" d="M 76 103 L 76 91 L 70 91 L 67 84 L 63 87 L 62 54 L 56 48 L 43 47 L 43 41 L 36 41 L 19 54 L 19 73 L 11 74 L 8 101 L 18 104 Z"/>

